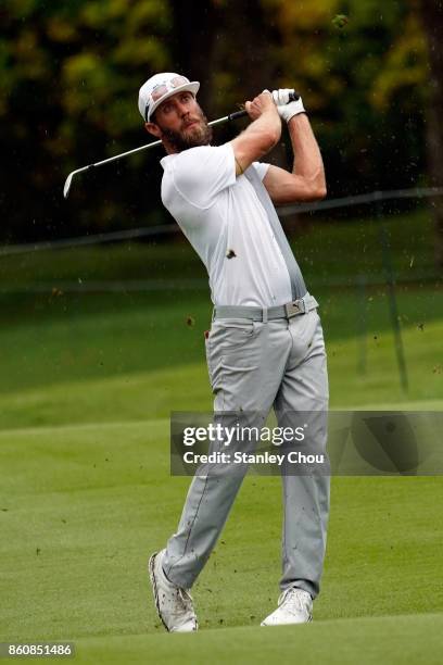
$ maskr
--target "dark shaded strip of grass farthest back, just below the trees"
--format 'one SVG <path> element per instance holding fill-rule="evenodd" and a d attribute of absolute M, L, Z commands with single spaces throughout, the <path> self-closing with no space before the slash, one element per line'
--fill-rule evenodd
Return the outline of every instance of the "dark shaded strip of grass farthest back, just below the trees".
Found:
<path fill-rule="evenodd" d="M 433 226 L 426 208 L 383 217 L 394 269 L 414 278 L 432 271 Z M 342 277 L 352 283 L 358 274 L 378 278 L 383 273 L 380 219 L 372 216 L 304 225 L 292 234 L 292 247 L 309 284 Z M 284 221 L 283 221 L 284 223 Z M 5 285 L 89 280 L 205 279 L 204 268 L 180 234 L 157 243 L 127 242 L 1 256 L 0 280 Z"/>

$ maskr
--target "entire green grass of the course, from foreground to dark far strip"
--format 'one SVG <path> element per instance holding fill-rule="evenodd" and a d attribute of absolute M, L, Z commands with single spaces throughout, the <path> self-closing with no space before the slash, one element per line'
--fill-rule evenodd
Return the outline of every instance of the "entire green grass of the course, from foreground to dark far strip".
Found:
<path fill-rule="evenodd" d="M 390 224 L 405 276 L 429 264 L 426 222 L 417 213 Z M 331 405 L 441 411 L 441 286 L 397 289 L 405 393 L 387 290 L 325 284 L 328 275 L 380 274 L 376 225 L 326 225 L 296 244 L 308 284 L 317 284 Z M 183 244 L 36 253 L 3 258 L 0 267 L 3 284 L 54 288 L 166 275 L 202 271 Z M 176 528 L 189 484 L 169 476 L 168 417 L 212 403 L 207 293 L 179 286 L 0 296 L 0 641 L 72 640 L 76 661 L 93 664 L 440 662 L 440 477 L 333 478 L 315 622 L 277 629 L 258 623 L 278 595 L 280 481 L 248 477 L 194 588 L 202 630 L 163 632 L 147 557 Z"/>

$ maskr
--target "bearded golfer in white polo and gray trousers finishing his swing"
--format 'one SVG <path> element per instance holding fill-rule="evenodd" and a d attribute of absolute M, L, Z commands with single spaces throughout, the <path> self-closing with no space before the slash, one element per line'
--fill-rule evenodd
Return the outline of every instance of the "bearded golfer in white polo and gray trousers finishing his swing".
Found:
<path fill-rule="evenodd" d="M 203 261 L 214 314 L 206 359 L 214 411 L 268 414 L 325 412 L 328 377 L 318 303 L 304 284 L 274 204 L 326 196 L 320 151 L 303 102 L 291 90 L 265 90 L 245 102 L 248 128 L 223 146 L 195 96 L 200 84 L 156 74 L 139 91 L 147 130 L 167 155 L 162 201 Z M 260 160 L 288 123 L 292 173 Z M 326 428 L 316 444 L 326 448 Z M 242 475 L 199 474 L 182 515 L 149 569 L 156 610 L 169 631 L 198 629 L 189 593 L 225 525 Z M 329 512 L 327 475 L 283 475 L 281 594 L 262 626 L 312 619 L 319 592 Z M 266 525 L 264 525 L 264 531 Z M 253 543 L 251 543 L 253 551 Z"/>

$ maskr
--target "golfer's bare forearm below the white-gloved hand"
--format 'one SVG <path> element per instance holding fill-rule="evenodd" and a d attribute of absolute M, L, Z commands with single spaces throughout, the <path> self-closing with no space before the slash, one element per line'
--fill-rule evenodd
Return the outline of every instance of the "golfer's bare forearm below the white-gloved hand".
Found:
<path fill-rule="evenodd" d="M 326 190 L 321 153 L 307 115 L 300 113 L 291 117 L 288 129 L 294 153 L 292 173 L 311 180 L 319 189 Z"/>

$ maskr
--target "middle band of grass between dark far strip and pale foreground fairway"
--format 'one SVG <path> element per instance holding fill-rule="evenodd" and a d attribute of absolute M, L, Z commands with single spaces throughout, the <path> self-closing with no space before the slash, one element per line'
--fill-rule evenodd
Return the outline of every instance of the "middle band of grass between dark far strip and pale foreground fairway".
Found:
<path fill-rule="evenodd" d="M 385 293 L 365 301 L 364 341 L 355 337 L 354 294 L 330 291 L 321 304 L 331 405 L 443 399 L 443 299 L 435 290 L 400 290 L 409 390 L 402 391 Z M 92 297 L 66 300 L 38 321 L 21 318 L 0 330 L 0 428 L 167 417 L 207 411 L 212 397 L 204 363 L 207 301 L 132 301 L 132 309 L 91 309 Z M 97 302 L 98 297 L 94 297 Z M 85 306 L 83 306 L 85 305 Z M 356 306 L 357 305 L 357 306 Z M 128 305 L 127 305 L 128 306 Z M 187 315 L 194 319 L 186 323 Z M 441 318 L 438 318 L 440 316 Z M 365 372 L 357 366 L 365 360 Z"/>

